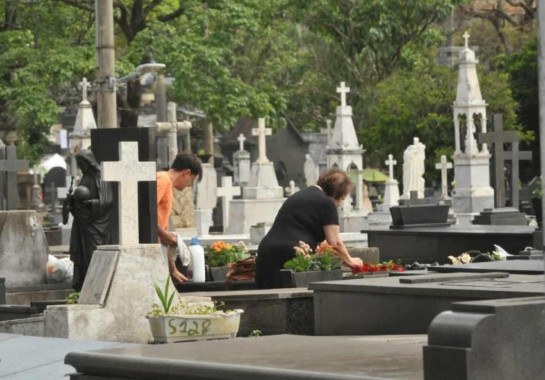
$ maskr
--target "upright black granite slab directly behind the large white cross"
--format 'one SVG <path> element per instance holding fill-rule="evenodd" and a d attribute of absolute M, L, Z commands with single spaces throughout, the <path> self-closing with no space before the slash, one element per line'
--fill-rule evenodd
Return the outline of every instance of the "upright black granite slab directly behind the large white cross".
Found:
<path fill-rule="evenodd" d="M 99 163 L 119 161 L 119 142 L 138 142 L 138 159 L 156 161 L 155 128 L 93 129 L 91 150 Z M 114 199 L 117 199 L 117 183 L 112 183 Z M 118 210 L 112 210 L 112 243 L 119 242 Z M 138 183 L 138 220 L 140 243 L 157 243 L 157 187 L 156 182 Z"/>

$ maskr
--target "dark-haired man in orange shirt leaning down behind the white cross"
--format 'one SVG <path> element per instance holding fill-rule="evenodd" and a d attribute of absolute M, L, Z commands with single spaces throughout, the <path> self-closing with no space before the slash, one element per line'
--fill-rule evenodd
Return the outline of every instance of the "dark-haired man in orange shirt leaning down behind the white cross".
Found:
<path fill-rule="evenodd" d="M 168 230 L 172 189 L 183 190 L 192 186 L 196 178 L 201 180 L 202 166 L 193 154 L 178 154 L 168 171 L 157 172 L 157 234 L 161 244 L 168 247 L 168 268 L 175 283 L 187 281 L 187 277 L 176 268 L 177 236 Z"/>

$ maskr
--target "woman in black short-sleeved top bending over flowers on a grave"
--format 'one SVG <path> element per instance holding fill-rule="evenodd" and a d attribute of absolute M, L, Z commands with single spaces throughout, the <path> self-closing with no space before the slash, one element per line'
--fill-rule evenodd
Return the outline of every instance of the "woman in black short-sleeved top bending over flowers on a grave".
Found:
<path fill-rule="evenodd" d="M 352 258 L 339 234 L 337 207 L 346 198 L 352 183 L 339 169 L 330 169 L 318 184 L 290 196 L 278 211 L 273 226 L 257 250 L 256 285 L 259 289 L 279 288 L 280 269 L 295 256 L 299 241 L 312 249 L 324 240 L 349 267 L 363 265 Z"/>

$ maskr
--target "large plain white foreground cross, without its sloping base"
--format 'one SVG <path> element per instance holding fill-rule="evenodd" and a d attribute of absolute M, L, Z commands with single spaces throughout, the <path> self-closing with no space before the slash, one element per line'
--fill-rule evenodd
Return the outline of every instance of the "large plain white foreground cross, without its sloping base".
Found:
<path fill-rule="evenodd" d="M 155 162 L 138 161 L 138 143 L 121 141 L 119 161 L 102 163 L 102 179 L 119 182 L 119 244 L 139 244 L 138 182 L 155 181 Z"/>

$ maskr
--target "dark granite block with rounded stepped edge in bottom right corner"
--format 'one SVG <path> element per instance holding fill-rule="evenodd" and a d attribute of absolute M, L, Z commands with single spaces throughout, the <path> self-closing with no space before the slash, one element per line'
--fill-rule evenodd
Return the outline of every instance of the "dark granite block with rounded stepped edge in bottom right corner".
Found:
<path fill-rule="evenodd" d="M 543 379 L 545 298 L 461 302 L 432 322 L 424 379 Z"/>

